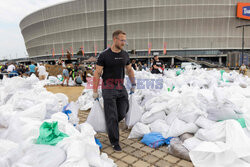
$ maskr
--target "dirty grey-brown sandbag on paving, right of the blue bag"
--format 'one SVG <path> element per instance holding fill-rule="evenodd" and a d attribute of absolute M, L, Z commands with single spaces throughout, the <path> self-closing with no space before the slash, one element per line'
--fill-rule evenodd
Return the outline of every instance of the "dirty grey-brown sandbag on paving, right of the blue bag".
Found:
<path fill-rule="evenodd" d="M 173 138 L 170 140 L 168 153 L 175 157 L 190 161 L 189 151 L 182 145 L 182 142 L 179 138 Z"/>

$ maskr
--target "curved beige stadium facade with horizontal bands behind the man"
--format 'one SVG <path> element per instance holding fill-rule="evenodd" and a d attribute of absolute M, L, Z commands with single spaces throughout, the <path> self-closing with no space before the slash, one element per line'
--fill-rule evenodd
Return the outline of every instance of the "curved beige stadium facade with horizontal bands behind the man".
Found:
<path fill-rule="evenodd" d="M 242 29 L 250 24 L 237 16 L 237 3 L 248 0 L 107 0 L 108 44 L 112 32 L 127 33 L 127 51 L 182 55 L 220 54 L 242 47 Z M 249 5 L 250 6 L 250 5 Z M 20 22 L 30 57 L 94 54 L 104 49 L 104 1 L 75 0 L 53 5 Z M 248 9 L 248 8 L 247 8 Z M 245 12 L 248 15 L 248 10 Z M 250 27 L 245 28 L 250 49 Z"/>

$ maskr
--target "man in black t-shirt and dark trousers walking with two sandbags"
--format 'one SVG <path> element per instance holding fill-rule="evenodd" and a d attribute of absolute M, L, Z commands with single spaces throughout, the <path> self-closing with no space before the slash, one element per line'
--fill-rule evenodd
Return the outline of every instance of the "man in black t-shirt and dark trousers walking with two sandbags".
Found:
<path fill-rule="evenodd" d="M 131 93 L 135 90 L 134 71 L 129 55 L 123 50 L 126 44 L 126 34 L 117 30 L 113 33 L 113 44 L 100 53 L 94 73 L 93 97 L 98 99 L 99 78 L 102 75 L 102 96 L 104 113 L 110 143 L 115 151 L 121 151 L 119 145 L 119 126 L 128 112 L 128 93 L 124 86 L 125 68 L 132 83 Z"/>

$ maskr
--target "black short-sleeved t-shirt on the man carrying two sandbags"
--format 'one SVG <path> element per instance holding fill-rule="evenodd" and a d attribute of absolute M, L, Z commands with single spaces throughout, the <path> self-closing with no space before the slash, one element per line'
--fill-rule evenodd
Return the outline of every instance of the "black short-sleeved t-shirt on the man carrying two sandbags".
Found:
<path fill-rule="evenodd" d="M 125 66 L 130 64 L 129 55 L 122 50 L 115 53 L 108 48 L 100 53 L 97 59 L 97 65 L 103 66 L 102 79 L 104 84 L 122 82 L 125 76 Z M 107 82 L 108 81 L 108 82 Z"/>

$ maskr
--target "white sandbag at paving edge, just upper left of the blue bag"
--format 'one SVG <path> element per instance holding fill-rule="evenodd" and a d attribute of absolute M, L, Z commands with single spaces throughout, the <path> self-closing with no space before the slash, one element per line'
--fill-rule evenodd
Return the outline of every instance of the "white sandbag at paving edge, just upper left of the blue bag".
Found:
<path fill-rule="evenodd" d="M 132 128 L 128 138 L 129 139 L 141 138 L 148 133 L 150 133 L 149 126 L 141 122 L 137 122 L 135 126 Z"/>

